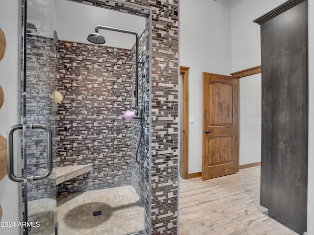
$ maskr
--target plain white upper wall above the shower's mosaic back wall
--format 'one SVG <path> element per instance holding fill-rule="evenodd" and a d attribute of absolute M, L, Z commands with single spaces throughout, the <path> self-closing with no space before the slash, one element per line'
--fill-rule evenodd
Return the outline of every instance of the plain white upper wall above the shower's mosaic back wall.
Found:
<path fill-rule="evenodd" d="M 59 40 L 91 44 L 87 36 L 95 33 L 97 25 L 121 28 L 139 35 L 145 29 L 146 19 L 140 16 L 68 0 L 54 0 L 54 7 Z M 134 35 L 103 29 L 99 33 L 105 37 L 103 46 L 131 49 L 135 44 Z"/>

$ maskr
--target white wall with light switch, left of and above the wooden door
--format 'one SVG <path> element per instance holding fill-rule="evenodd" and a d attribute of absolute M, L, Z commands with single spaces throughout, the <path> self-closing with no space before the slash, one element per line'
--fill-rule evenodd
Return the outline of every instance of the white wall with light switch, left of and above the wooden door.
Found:
<path fill-rule="evenodd" d="M 202 73 L 230 75 L 229 1 L 180 0 L 180 65 L 189 73 L 188 172 L 202 171 Z"/>

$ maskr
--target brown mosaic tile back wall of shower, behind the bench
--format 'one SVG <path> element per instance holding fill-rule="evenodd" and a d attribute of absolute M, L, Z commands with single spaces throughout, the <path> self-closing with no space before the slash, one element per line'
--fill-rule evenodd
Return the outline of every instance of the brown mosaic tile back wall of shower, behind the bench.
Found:
<path fill-rule="evenodd" d="M 58 193 L 131 184 L 131 51 L 59 42 L 58 167 L 92 164 Z"/>

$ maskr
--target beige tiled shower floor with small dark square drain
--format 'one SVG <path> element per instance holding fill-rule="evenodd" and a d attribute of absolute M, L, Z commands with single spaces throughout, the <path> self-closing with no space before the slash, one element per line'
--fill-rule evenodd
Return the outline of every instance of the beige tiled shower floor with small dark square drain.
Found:
<path fill-rule="evenodd" d="M 144 229 L 144 205 L 132 186 L 71 193 L 58 196 L 57 220 L 59 235 L 126 235 Z"/>

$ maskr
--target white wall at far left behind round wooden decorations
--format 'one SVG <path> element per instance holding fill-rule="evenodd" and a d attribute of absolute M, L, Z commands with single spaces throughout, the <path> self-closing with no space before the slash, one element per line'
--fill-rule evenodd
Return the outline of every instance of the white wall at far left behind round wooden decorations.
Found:
<path fill-rule="evenodd" d="M 0 134 L 5 138 L 9 127 L 18 123 L 18 9 L 17 0 L 0 1 L 0 28 L 7 41 L 0 61 L 0 85 L 5 95 L 0 109 Z M 0 180 L 0 204 L 3 208 L 1 221 L 18 223 L 18 185 L 7 176 Z M 0 234 L 17 235 L 18 228 L 0 227 Z"/>

